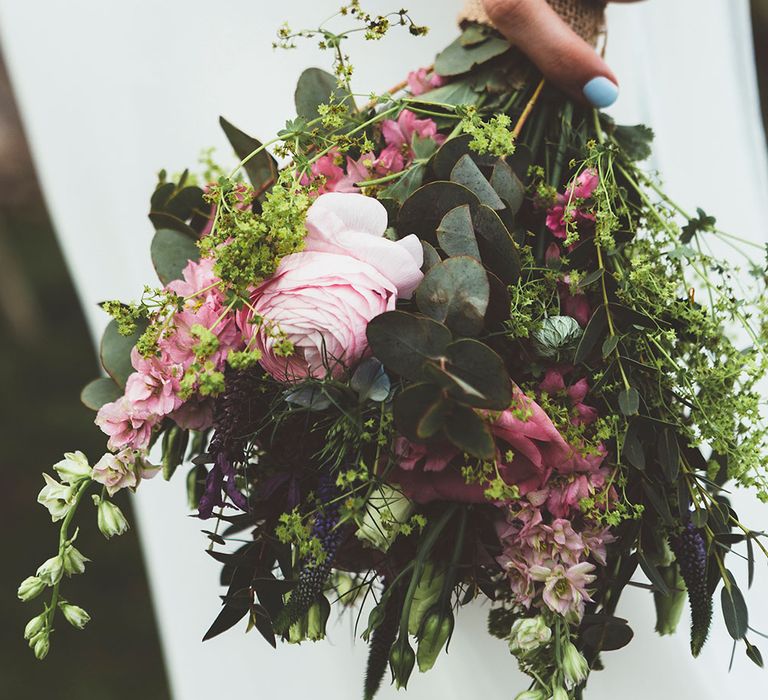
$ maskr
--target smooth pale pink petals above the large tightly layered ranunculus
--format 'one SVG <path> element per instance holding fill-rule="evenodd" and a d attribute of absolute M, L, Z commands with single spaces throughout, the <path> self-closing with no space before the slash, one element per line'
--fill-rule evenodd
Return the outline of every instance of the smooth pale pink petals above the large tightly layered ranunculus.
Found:
<path fill-rule="evenodd" d="M 418 237 L 384 238 L 387 210 L 373 197 L 325 194 L 309 208 L 306 225 L 306 252 L 333 253 L 364 262 L 395 286 L 398 298 L 410 298 L 424 278 L 424 251 Z"/>

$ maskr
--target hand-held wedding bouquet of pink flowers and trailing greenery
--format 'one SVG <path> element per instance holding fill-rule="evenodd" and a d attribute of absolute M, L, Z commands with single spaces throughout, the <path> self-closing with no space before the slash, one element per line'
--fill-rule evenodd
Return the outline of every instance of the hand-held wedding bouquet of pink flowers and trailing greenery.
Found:
<path fill-rule="evenodd" d="M 465 23 L 361 106 L 344 39 L 425 29 L 340 14 L 352 29 L 280 31 L 335 60 L 275 139 L 222 119 L 231 172 L 160 174 L 162 286 L 103 305 L 108 377 L 83 391 L 109 451 L 44 475 L 61 531 L 19 589 L 47 596 L 30 647 L 48 653 L 57 612 L 88 621 L 62 597 L 88 561 L 78 506 L 119 535 L 112 496 L 183 468 L 227 587 L 205 639 L 247 620 L 273 646 L 319 640 L 335 606 L 370 647 L 365 698 L 387 668 L 398 686 L 432 668 L 477 598 L 526 700 L 580 697 L 631 641 L 627 586 L 661 634 L 688 599 L 694 655 L 720 589 L 762 665 L 728 567 L 751 583 L 768 552 L 726 484 L 768 500 L 765 251 L 738 282 L 709 245 L 749 243 L 665 196 L 651 132 L 570 101 L 492 28 Z"/>

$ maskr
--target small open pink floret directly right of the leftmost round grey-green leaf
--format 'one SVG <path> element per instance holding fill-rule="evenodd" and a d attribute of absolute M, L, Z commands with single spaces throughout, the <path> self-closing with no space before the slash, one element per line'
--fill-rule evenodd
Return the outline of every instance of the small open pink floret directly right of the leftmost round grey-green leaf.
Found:
<path fill-rule="evenodd" d="M 181 405 L 180 366 L 166 365 L 156 357 L 142 357 L 136 348 L 131 350 L 131 363 L 136 372 L 128 377 L 125 396 L 135 410 L 166 416 Z"/>

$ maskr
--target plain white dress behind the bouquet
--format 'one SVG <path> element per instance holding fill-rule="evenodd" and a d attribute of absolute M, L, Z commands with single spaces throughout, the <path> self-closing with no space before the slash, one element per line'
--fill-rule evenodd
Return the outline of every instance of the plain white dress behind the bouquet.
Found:
<path fill-rule="evenodd" d="M 204 146 L 227 153 L 219 114 L 257 137 L 275 133 L 292 114 L 300 71 L 327 66 L 329 57 L 309 44 L 273 52 L 274 31 L 284 20 L 295 28 L 316 24 L 338 4 L 0 0 L 3 50 L 94 337 L 106 323 L 96 302 L 135 298 L 155 279 L 145 218 L 154 173 L 194 166 Z M 380 11 L 394 7 L 387 0 L 366 4 Z M 454 36 L 459 5 L 412 2 L 414 18 L 432 28 L 428 37 L 411 39 L 404 32 L 353 49 L 360 89 L 386 89 L 430 63 Z M 747 0 L 616 6 L 608 59 L 623 87 L 613 111 L 621 121 L 655 128 L 656 166 L 668 191 L 688 208 L 703 204 L 723 228 L 766 240 L 768 169 Z M 737 506 L 754 527 L 765 522 L 765 508 L 747 498 Z M 352 644 L 349 619 L 330 631 L 329 644 L 273 651 L 257 633 L 244 636 L 240 626 L 202 644 L 219 607 L 218 565 L 203 553 L 200 523 L 187 517 L 183 483 L 143 485 L 137 507 L 176 700 L 227 697 L 229 688 L 240 694 L 247 684 L 254 697 L 361 697 L 366 647 Z M 732 568 L 742 567 L 736 562 Z M 761 569 L 749 596 L 758 629 L 768 626 Z M 731 642 L 719 610 L 698 661 L 688 653 L 685 621 L 676 637 L 660 640 L 653 633 L 648 593 L 628 590 L 619 612 L 630 618 L 636 638 L 627 649 L 605 655 L 607 670 L 594 674 L 590 700 L 760 695 L 763 676 L 743 647 L 734 672 L 727 673 Z M 119 630 L 115 634 L 119 639 Z M 753 641 L 760 645 L 759 638 Z M 524 687 L 505 645 L 486 635 L 481 606 L 464 611 L 448 656 L 431 673 L 414 673 L 409 686 L 412 698 L 488 700 L 513 698 Z M 380 697 L 394 697 L 394 690 Z"/>

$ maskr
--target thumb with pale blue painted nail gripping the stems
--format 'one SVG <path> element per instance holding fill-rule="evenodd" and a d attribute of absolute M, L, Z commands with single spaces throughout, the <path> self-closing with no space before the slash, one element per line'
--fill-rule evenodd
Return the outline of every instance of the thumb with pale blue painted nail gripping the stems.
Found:
<path fill-rule="evenodd" d="M 496 28 L 571 97 L 608 107 L 619 96 L 613 71 L 546 0 L 483 0 Z"/>

